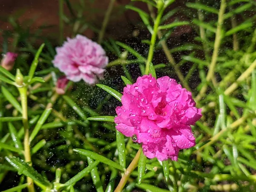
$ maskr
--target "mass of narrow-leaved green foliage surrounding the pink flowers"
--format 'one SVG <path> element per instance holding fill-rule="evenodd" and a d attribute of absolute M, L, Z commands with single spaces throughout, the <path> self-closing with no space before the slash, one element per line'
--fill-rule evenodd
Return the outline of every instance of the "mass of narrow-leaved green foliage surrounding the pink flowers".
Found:
<path fill-rule="evenodd" d="M 129 9 L 140 16 L 136 29 L 142 35 L 131 39 L 136 43 L 105 38 L 102 44 L 110 58 L 105 80 L 97 86 L 69 84 L 72 89 L 67 88 L 63 96 L 55 93 L 56 80 L 62 75 L 52 65 L 57 43 L 40 31 L 32 34 L 26 28 L 30 25 L 18 22 L 21 13 L 3 18 L 13 28 L 1 29 L 3 52 L 19 52 L 12 71 L 0 67 L 0 185 L 4 192 L 25 188 L 32 192 L 34 186 L 26 183 L 26 177 L 44 192 L 111 192 L 125 175 L 129 178 L 123 183 L 124 192 L 255 189 L 256 4 L 195 0 L 182 1 L 183 8 L 172 9 L 173 0 L 138 1 L 148 10 L 132 2 L 112 12 L 124 14 Z M 63 42 L 64 26 L 72 36 L 86 29 L 99 33 L 95 25 L 99 22 L 83 15 L 95 14 L 89 9 L 93 1 L 59 3 L 60 33 L 54 38 Z M 176 13 L 186 15 L 186 20 L 170 22 Z M 183 25 L 191 27 L 193 34 L 187 33 L 186 40 L 172 38 Z M 14 40 L 11 45 L 9 38 Z M 38 39 L 44 44 L 35 49 Z M 113 123 L 123 87 L 148 73 L 177 79 L 192 90 L 202 108 L 203 117 L 192 126 L 196 145 L 180 151 L 177 162 L 146 158 L 141 145 L 117 131 Z M 136 158 L 139 149 L 142 152 Z M 134 159 L 137 163 L 130 169 Z"/>

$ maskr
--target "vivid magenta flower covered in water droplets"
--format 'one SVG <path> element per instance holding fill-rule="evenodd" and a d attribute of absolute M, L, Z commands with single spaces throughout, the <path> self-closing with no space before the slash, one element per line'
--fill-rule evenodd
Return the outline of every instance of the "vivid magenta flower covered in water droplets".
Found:
<path fill-rule="evenodd" d="M 189 91 L 168 76 L 151 75 L 124 88 L 116 113 L 116 129 L 142 143 L 148 158 L 161 161 L 177 161 L 179 150 L 195 146 L 190 125 L 202 116 Z"/>

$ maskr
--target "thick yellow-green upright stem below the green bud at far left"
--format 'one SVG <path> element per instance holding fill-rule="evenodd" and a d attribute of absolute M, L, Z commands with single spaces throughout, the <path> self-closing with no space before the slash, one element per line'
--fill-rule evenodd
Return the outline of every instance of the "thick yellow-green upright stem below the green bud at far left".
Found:
<path fill-rule="evenodd" d="M 28 107 L 27 107 L 27 87 L 18 88 L 20 92 L 21 106 L 22 106 L 22 122 L 24 126 L 24 156 L 25 161 L 32 166 L 31 154 L 30 154 L 30 143 L 29 143 L 29 122 L 28 122 Z M 27 177 L 28 190 L 29 192 L 35 192 L 33 180 Z"/>

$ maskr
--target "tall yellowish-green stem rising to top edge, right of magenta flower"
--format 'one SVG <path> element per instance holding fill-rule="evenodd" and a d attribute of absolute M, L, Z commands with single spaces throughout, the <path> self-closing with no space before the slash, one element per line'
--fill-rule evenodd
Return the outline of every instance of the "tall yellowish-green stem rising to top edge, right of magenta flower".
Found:
<path fill-rule="evenodd" d="M 223 36 L 222 35 L 222 25 L 223 25 L 223 21 L 224 21 L 223 15 L 225 13 L 225 9 L 226 9 L 226 0 L 221 0 L 221 7 L 220 7 L 220 11 L 218 13 L 218 25 L 217 25 L 217 30 L 216 30 L 216 34 L 215 34 L 214 48 L 213 48 L 213 53 L 212 53 L 212 61 L 209 66 L 209 71 L 206 76 L 206 81 L 210 81 L 212 79 L 212 77 L 214 76 L 215 65 L 216 65 L 217 59 L 218 59 L 218 51 L 219 51 L 219 47 L 221 45 L 221 39 Z M 196 97 L 197 101 L 203 97 L 206 90 L 207 90 L 207 82 L 204 84 L 204 86 L 200 90 L 198 96 Z"/>

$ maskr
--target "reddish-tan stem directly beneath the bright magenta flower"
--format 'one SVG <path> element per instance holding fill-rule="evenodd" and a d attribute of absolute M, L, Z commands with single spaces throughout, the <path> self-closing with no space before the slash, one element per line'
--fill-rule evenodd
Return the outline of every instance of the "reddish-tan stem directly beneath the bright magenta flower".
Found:
<path fill-rule="evenodd" d="M 134 159 L 131 161 L 131 163 L 128 166 L 128 168 L 125 170 L 125 174 L 122 176 L 122 178 L 121 178 L 120 182 L 118 183 L 118 186 L 116 187 L 114 192 L 122 192 L 122 189 L 124 188 L 128 178 L 130 177 L 131 173 L 133 172 L 133 170 L 138 165 L 139 158 L 140 158 L 140 151 L 141 151 L 141 148 L 137 152 L 137 154 L 134 157 Z"/>

